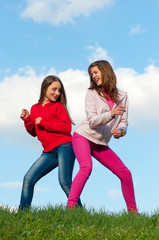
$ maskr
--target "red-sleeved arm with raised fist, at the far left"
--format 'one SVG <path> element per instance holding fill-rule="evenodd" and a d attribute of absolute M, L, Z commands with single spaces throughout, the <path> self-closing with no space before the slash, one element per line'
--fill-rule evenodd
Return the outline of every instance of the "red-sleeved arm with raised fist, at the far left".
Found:
<path fill-rule="evenodd" d="M 32 120 L 31 120 L 31 117 L 30 117 L 27 109 L 22 110 L 20 118 L 24 121 L 24 126 L 25 126 L 27 132 L 30 135 L 32 135 L 33 137 L 36 137 L 35 126 L 34 126 Z"/>

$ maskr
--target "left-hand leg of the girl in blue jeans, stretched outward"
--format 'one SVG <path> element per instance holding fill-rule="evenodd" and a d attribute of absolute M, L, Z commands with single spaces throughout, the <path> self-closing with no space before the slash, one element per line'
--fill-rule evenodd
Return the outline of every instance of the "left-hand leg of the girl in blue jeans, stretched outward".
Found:
<path fill-rule="evenodd" d="M 23 179 L 20 209 L 24 209 L 31 205 L 35 183 L 57 166 L 57 158 L 54 158 L 51 152 L 42 153 L 35 161 Z"/>

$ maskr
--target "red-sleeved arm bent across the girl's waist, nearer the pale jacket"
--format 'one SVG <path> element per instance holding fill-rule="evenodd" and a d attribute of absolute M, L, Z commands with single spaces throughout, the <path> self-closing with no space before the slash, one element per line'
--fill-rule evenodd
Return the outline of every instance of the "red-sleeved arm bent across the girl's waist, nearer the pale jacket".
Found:
<path fill-rule="evenodd" d="M 45 120 L 44 118 L 38 123 L 45 130 L 57 133 L 70 133 L 71 132 L 71 121 L 66 112 L 66 109 L 61 104 L 57 108 L 58 119 Z"/>

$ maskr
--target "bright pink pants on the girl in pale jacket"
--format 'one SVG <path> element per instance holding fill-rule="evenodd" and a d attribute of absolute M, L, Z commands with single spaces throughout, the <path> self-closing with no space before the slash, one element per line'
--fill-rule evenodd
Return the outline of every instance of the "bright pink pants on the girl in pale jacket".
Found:
<path fill-rule="evenodd" d="M 73 135 L 72 144 L 80 170 L 73 180 L 67 206 L 71 208 L 77 205 L 84 185 L 92 171 L 92 155 L 120 179 L 128 212 L 133 211 L 136 213 L 137 208 L 131 172 L 119 157 L 108 146 L 97 145 L 77 133 Z"/>

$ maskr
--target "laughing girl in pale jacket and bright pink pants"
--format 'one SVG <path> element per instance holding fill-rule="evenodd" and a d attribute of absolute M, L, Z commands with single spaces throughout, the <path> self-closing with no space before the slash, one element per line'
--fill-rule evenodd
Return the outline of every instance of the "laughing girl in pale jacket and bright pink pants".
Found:
<path fill-rule="evenodd" d="M 88 68 L 90 87 L 86 95 L 87 119 L 73 135 L 73 149 L 80 170 L 73 180 L 67 206 L 75 207 L 92 171 L 93 156 L 121 181 L 128 212 L 137 213 L 131 172 L 108 147 L 113 135 L 119 139 L 127 132 L 127 94 L 116 87 L 116 76 L 109 62 L 101 60 Z"/>

